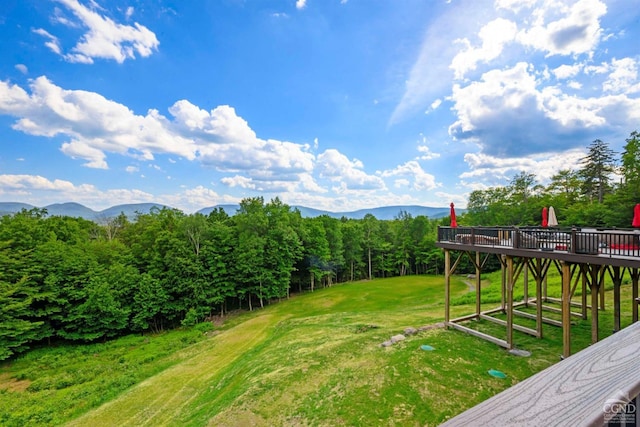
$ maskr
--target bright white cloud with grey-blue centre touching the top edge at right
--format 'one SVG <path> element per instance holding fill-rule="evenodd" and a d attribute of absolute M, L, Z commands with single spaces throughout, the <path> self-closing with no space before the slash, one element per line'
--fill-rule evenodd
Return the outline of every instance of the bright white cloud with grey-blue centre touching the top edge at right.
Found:
<path fill-rule="evenodd" d="M 531 15 L 533 25 L 521 30 L 517 39 L 547 55 L 592 55 L 602 37 L 600 18 L 607 6 L 600 0 L 544 2 Z"/>

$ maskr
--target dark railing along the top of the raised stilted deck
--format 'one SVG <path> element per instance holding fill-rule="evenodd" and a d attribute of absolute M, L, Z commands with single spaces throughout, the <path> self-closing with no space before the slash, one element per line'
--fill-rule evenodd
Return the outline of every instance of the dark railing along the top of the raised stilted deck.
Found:
<path fill-rule="evenodd" d="M 640 258 L 640 230 L 438 227 L 438 242 Z"/>

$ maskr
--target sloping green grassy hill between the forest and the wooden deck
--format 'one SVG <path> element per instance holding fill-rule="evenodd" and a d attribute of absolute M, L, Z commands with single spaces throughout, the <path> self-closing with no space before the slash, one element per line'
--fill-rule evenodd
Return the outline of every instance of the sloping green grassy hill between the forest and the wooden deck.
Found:
<path fill-rule="evenodd" d="M 454 315 L 473 311 L 462 278 L 453 289 Z M 0 425 L 438 425 L 559 360 L 553 327 L 543 340 L 516 335 L 529 358 L 437 327 L 380 346 L 441 322 L 442 301 L 442 277 L 374 280 L 236 314 L 213 332 L 36 349 L 0 366 Z M 582 323 L 574 351 L 588 343 Z"/>

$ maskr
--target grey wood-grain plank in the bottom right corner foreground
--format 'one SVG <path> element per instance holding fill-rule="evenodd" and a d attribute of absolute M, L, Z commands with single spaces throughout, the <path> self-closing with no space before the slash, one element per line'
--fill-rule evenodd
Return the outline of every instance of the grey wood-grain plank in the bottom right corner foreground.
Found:
<path fill-rule="evenodd" d="M 640 323 L 514 385 L 443 426 L 601 426 L 618 412 L 638 425 Z M 445 396 L 446 398 L 446 396 Z M 627 415 L 621 411 L 627 410 Z M 615 421 L 615 420 L 614 420 Z M 620 425 L 620 424 L 616 424 Z M 624 425 L 624 424 L 622 424 Z"/>

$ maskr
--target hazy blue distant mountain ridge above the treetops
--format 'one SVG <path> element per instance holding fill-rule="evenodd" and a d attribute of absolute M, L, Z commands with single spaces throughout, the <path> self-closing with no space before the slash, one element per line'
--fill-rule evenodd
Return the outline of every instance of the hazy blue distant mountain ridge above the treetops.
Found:
<path fill-rule="evenodd" d="M 124 204 L 112 206 L 110 208 L 94 211 L 91 208 L 83 206 L 79 203 L 55 203 L 52 205 L 42 206 L 42 209 L 46 209 L 49 216 L 70 216 L 70 217 L 79 217 L 88 219 L 91 221 L 100 221 L 101 219 L 113 218 L 121 213 L 124 213 L 125 216 L 129 219 L 135 218 L 138 213 L 146 214 L 149 213 L 152 209 L 162 209 L 163 207 L 170 208 L 170 206 L 161 205 L 158 203 L 133 203 L 133 204 Z M 27 203 L 16 203 L 16 202 L 0 202 L 0 216 L 3 215 L 11 215 L 16 212 L 20 212 L 22 209 L 34 209 L 36 206 L 27 204 Z M 240 208 L 240 205 L 227 204 L 227 205 L 216 205 L 207 208 L 200 209 L 198 213 L 203 215 L 208 215 L 214 209 L 222 209 L 228 215 L 234 215 L 237 210 Z M 367 214 L 371 214 L 377 219 L 380 220 L 390 220 L 397 218 L 401 212 L 406 212 L 412 217 L 416 216 L 426 216 L 432 219 L 435 218 L 443 218 L 449 215 L 448 207 L 428 207 L 428 206 L 418 206 L 418 205 L 407 205 L 407 206 L 382 206 L 378 208 L 371 209 L 359 209 L 355 211 L 349 212 L 331 212 L 324 211 L 320 209 L 308 208 L 305 206 L 291 206 L 292 209 L 298 209 L 300 214 L 303 217 L 314 218 L 321 215 L 327 215 L 332 218 L 349 218 L 349 219 L 362 219 Z M 458 213 L 463 213 L 464 209 L 458 210 Z"/>

